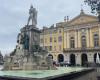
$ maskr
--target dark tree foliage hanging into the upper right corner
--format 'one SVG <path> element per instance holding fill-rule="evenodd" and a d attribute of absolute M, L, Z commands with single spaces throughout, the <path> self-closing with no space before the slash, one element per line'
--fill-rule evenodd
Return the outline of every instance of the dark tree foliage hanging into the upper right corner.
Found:
<path fill-rule="evenodd" d="M 84 2 L 91 7 L 92 13 L 98 14 L 98 19 L 100 22 L 100 0 L 85 0 Z"/>

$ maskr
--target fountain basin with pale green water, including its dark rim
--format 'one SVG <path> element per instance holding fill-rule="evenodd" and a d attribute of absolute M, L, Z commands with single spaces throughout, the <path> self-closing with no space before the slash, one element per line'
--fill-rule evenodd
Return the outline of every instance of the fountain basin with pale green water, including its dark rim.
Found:
<path fill-rule="evenodd" d="M 0 77 L 16 78 L 16 80 L 17 79 L 44 80 L 48 78 L 53 78 L 55 76 L 60 76 L 63 74 L 69 74 L 73 72 L 81 72 L 83 70 L 88 70 L 88 69 L 89 68 L 82 68 L 82 67 L 58 67 L 57 70 L 0 71 Z"/>

